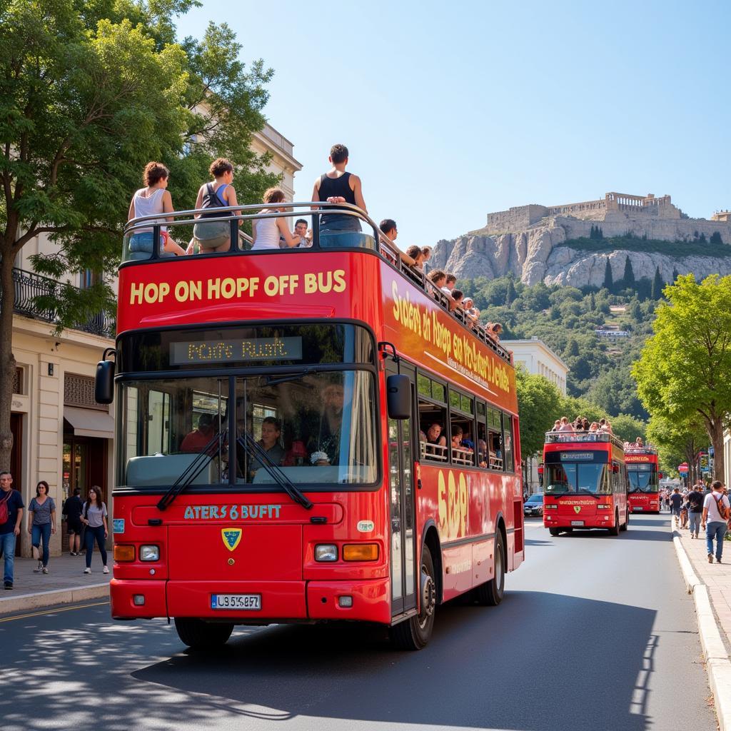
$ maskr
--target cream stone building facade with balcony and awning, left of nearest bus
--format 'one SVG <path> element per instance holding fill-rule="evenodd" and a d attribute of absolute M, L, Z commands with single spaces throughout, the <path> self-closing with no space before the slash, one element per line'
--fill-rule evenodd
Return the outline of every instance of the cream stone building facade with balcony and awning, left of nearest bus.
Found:
<path fill-rule="evenodd" d="M 270 154 L 269 170 L 282 176 L 281 186 L 291 200 L 294 175 L 302 168 L 292 156 L 292 143 L 267 125 L 255 135 L 251 146 L 258 154 Z M 35 298 L 58 292 L 59 282 L 34 273 L 31 256 L 51 256 L 56 251 L 57 245 L 41 236 L 27 243 L 14 262 L 12 349 L 17 367 L 10 464 L 13 486 L 20 491 L 26 507 L 35 495 L 37 482 L 48 482 L 58 510 L 58 530 L 50 542 L 52 556 L 69 548 L 61 521 L 64 500 L 75 488 L 85 497 L 88 488 L 98 485 L 111 512 L 114 484 L 114 405 L 102 406 L 94 401 L 96 363 L 105 348 L 114 347 L 113 314 L 100 313 L 89 322 L 54 334 L 55 312 L 37 306 Z M 83 288 L 92 279 L 93 274 L 85 272 L 68 275 L 60 284 Z M 16 553 L 31 553 L 24 528 Z"/>

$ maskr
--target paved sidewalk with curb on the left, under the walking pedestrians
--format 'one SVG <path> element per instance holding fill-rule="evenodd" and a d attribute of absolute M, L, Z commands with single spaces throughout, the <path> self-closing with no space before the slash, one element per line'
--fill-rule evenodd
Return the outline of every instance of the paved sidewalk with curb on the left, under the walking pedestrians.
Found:
<path fill-rule="evenodd" d="M 0 569 L 2 565 L 0 559 Z M 0 586 L 0 615 L 109 596 L 111 568 L 110 573 L 102 574 L 102 560 L 96 551 L 91 561 L 91 574 L 83 572 L 86 567 L 84 556 L 69 556 L 68 553 L 50 558 L 48 574 L 34 574 L 37 565 L 32 558 L 15 557 L 12 591 L 4 591 Z"/>

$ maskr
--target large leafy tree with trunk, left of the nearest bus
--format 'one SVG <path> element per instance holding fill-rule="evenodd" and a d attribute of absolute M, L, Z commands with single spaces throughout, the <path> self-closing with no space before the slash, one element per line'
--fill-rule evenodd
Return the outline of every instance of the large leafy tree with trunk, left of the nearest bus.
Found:
<path fill-rule="evenodd" d="M 248 151 L 270 72 L 260 62 L 244 72 L 227 26 L 176 43 L 175 18 L 194 4 L 0 5 L 0 469 L 12 448 L 12 265 L 23 246 L 42 234 L 56 241 L 56 256 L 33 260 L 56 279 L 104 275 L 84 291 L 58 287 L 58 327 L 68 327 L 113 307 L 108 280 L 146 162 L 168 164 L 173 200 L 184 208 L 214 154 L 235 157 L 240 200 L 276 179 Z"/>

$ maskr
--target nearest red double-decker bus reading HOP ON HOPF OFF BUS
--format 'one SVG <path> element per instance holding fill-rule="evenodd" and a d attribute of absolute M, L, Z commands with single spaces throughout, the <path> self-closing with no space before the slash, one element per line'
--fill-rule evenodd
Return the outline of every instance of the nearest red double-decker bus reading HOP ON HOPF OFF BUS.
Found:
<path fill-rule="evenodd" d="M 316 205 L 284 214 L 313 230 L 289 250 L 225 217 L 283 215 L 260 206 L 216 209 L 226 254 L 145 253 L 134 237 L 159 221 L 129 224 L 115 363 L 97 369 L 116 404 L 115 618 L 174 618 L 192 647 L 236 624 L 367 621 L 418 649 L 438 605 L 498 604 L 523 561 L 510 354 L 363 211 L 338 208 L 367 232 L 329 231 Z"/>

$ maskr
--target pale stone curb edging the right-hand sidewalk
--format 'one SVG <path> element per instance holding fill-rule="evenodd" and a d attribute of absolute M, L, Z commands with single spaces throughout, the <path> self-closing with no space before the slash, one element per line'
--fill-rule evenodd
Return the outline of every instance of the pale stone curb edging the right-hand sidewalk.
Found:
<path fill-rule="evenodd" d="M 687 591 L 693 594 L 700 646 L 705 660 L 705 670 L 708 673 L 708 685 L 711 686 L 713 693 L 719 731 L 731 731 L 731 660 L 721 639 L 716 617 L 713 615 L 708 587 L 695 575 L 678 531 L 673 531 L 673 543 L 678 553 Z"/>

